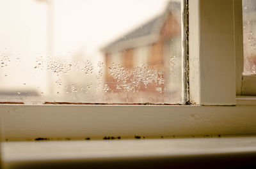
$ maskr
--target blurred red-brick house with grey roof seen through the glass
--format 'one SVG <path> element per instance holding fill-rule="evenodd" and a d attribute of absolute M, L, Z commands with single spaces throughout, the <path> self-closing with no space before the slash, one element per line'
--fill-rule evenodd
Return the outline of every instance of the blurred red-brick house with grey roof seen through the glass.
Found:
<path fill-rule="evenodd" d="M 117 88 L 122 83 L 117 82 L 118 80 L 116 81 L 109 72 L 109 67 L 113 63 L 119 63 L 127 71 L 145 66 L 147 69 L 152 68 L 159 72 L 162 70 L 163 73 L 160 73 L 159 78 L 163 78 L 164 83 L 159 80 L 147 86 L 141 83 L 138 95 L 145 92 L 147 97 L 153 98 L 153 102 L 159 103 L 164 103 L 166 101 L 164 96 L 170 98 L 170 95 L 172 95 L 171 98 L 180 101 L 182 92 L 181 27 L 180 3 L 170 1 L 162 15 L 104 47 L 102 52 L 104 52 L 106 64 L 105 83 L 109 87 L 109 92 L 120 92 Z M 124 93 L 124 90 L 122 92 Z M 134 102 L 137 101 L 137 97 L 132 93 L 130 96 L 125 96 L 125 99 Z"/>

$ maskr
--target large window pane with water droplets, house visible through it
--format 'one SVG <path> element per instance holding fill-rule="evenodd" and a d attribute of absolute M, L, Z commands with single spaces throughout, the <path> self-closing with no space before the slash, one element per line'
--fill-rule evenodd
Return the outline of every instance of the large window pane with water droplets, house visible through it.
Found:
<path fill-rule="evenodd" d="M 2 0 L 0 102 L 183 103 L 181 6 Z"/>

